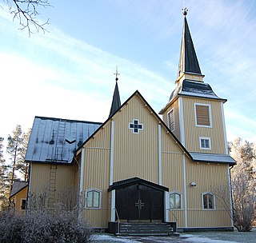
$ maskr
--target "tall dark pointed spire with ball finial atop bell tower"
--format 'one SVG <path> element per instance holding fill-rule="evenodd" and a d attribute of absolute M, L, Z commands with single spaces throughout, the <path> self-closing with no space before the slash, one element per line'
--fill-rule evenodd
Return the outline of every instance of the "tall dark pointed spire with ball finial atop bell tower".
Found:
<path fill-rule="evenodd" d="M 178 63 L 178 78 L 185 73 L 202 75 L 197 54 L 195 53 L 194 44 L 190 35 L 190 29 L 186 21 L 187 12 L 188 10 L 186 8 L 182 9 L 182 13 L 184 15 L 184 26 L 182 33 L 181 53 Z"/>

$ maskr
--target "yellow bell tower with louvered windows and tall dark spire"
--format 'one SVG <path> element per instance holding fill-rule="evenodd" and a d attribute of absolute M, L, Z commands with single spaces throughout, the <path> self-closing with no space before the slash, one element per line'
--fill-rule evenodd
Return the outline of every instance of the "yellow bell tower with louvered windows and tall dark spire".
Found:
<path fill-rule="evenodd" d="M 184 25 L 176 87 L 159 114 L 188 151 L 227 154 L 223 111 L 226 99 L 219 98 L 203 80 L 187 12 L 186 8 L 182 10 Z"/>

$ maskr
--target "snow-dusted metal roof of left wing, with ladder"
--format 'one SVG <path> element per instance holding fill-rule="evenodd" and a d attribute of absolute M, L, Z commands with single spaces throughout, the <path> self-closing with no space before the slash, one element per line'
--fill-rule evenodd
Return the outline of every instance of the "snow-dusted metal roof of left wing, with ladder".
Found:
<path fill-rule="evenodd" d="M 25 160 L 70 163 L 74 151 L 100 125 L 92 121 L 35 117 Z"/>

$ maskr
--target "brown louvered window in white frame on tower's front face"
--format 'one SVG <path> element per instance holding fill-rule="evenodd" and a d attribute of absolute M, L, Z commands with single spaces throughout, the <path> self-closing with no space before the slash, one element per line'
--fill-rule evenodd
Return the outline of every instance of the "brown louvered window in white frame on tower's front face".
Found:
<path fill-rule="evenodd" d="M 196 125 L 211 127 L 210 105 L 194 104 L 194 113 Z"/>

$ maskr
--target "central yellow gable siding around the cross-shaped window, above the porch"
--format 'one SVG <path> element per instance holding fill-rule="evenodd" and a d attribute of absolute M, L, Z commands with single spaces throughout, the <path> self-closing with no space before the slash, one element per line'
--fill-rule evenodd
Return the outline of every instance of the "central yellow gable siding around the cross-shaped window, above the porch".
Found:
<path fill-rule="evenodd" d="M 133 119 L 143 124 L 139 133 L 129 129 Z M 158 183 L 158 120 L 154 114 L 135 96 L 114 122 L 114 181 L 141 177 Z"/>

